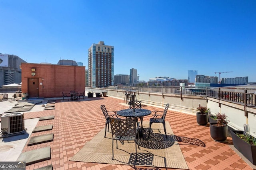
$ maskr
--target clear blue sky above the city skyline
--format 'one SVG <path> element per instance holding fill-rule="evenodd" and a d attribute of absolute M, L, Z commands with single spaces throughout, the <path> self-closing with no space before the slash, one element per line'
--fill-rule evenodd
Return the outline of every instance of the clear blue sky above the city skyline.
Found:
<path fill-rule="evenodd" d="M 0 0 L 0 53 L 88 65 L 114 46 L 114 74 L 187 79 L 188 70 L 256 82 L 256 0 Z"/>

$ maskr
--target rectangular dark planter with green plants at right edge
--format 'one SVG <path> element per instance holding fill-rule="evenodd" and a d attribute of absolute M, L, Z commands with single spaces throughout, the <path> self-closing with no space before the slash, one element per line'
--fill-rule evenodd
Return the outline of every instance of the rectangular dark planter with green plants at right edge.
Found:
<path fill-rule="evenodd" d="M 243 131 L 230 130 L 234 147 L 256 165 L 256 138 Z"/>

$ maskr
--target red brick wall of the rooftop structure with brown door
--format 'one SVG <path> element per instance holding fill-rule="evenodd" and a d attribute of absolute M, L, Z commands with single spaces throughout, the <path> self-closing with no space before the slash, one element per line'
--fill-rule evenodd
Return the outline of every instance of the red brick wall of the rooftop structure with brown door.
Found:
<path fill-rule="evenodd" d="M 31 68 L 36 68 L 35 76 L 31 75 Z M 61 91 L 85 90 L 85 66 L 21 63 L 21 77 L 22 93 L 28 93 L 28 78 L 38 78 L 42 98 L 62 97 Z"/>

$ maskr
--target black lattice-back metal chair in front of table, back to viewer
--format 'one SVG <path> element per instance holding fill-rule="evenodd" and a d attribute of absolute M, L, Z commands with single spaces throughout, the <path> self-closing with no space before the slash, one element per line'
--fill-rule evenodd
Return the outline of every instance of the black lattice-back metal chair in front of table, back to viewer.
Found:
<path fill-rule="evenodd" d="M 137 160 L 136 139 L 138 136 L 138 149 L 140 149 L 140 136 L 138 134 L 137 128 L 139 126 L 137 125 L 136 127 L 136 117 L 130 117 L 126 119 L 117 119 L 110 117 L 109 119 L 112 131 L 112 160 L 114 160 L 114 140 L 116 140 L 116 149 L 118 149 L 117 141 L 134 141 Z"/>

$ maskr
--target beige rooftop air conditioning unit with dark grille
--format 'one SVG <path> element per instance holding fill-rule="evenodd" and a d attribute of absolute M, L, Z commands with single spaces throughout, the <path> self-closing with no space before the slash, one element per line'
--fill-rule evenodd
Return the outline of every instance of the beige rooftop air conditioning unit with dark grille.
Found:
<path fill-rule="evenodd" d="M 1 117 L 2 135 L 10 135 L 24 131 L 23 113 L 8 113 Z"/>

